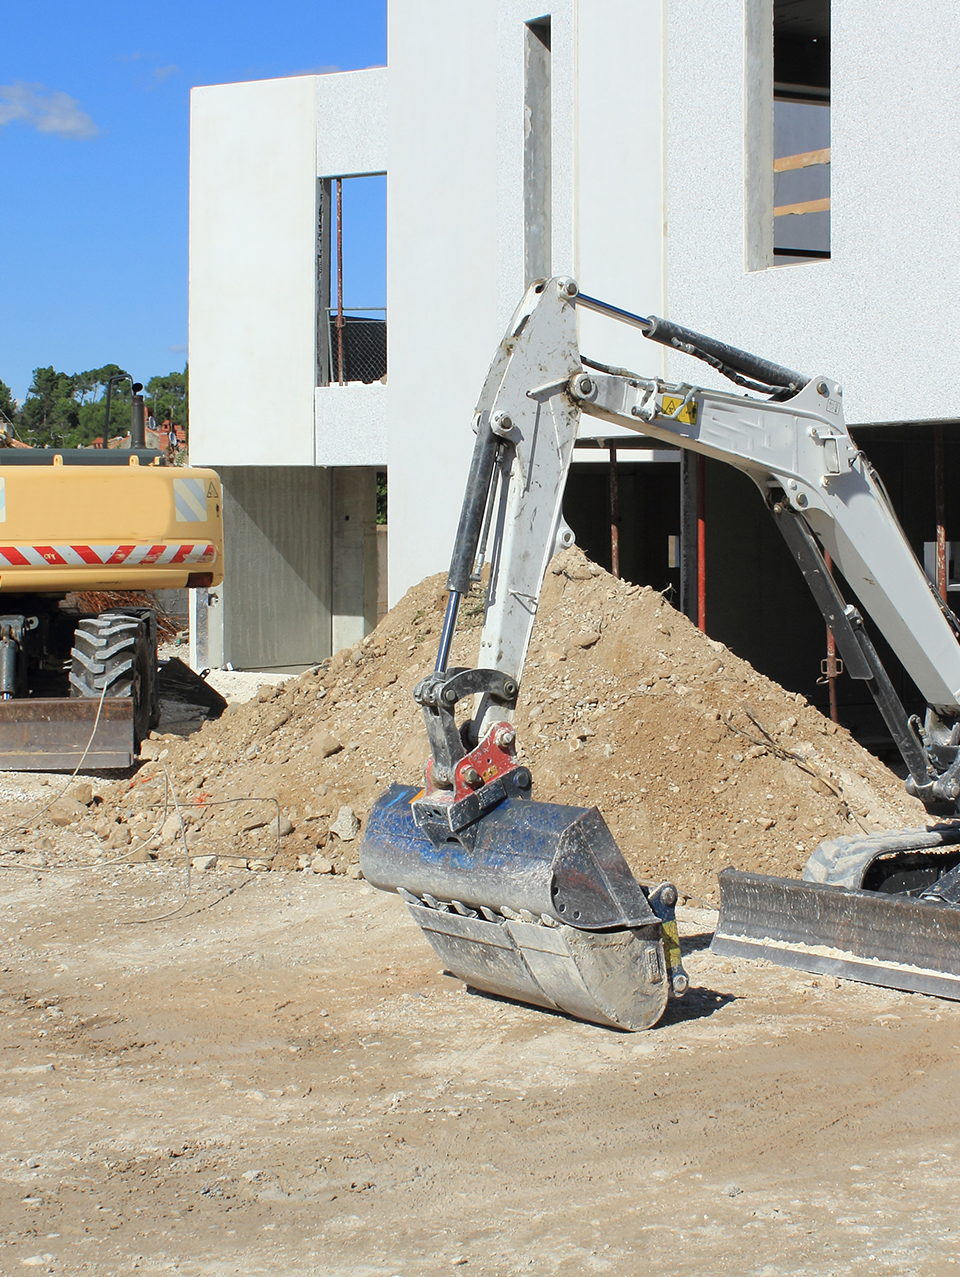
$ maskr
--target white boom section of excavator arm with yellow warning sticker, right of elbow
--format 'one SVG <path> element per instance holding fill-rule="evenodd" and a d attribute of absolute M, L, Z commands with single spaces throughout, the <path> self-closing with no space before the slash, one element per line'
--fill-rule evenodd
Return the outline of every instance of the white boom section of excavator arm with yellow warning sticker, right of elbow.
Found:
<path fill-rule="evenodd" d="M 957 621 L 934 593 L 880 478 L 850 438 L 837 383 L 814 377 L 786 400 L 777 393 L 762 401 L 591 372 L 573 379 L 571 393 L 591 416 L 724 461 L 756 483 L 836 638 L 845 672 L 866 681 L 877 701 L 909 769 L 908 788 L 929 810 L 955 813 Z M 678 401 L 682 409 L 674 407 Z M 825 554 L 927 701 L 923 727 L 905 714 L 863 616 L 841 598 Z"/>

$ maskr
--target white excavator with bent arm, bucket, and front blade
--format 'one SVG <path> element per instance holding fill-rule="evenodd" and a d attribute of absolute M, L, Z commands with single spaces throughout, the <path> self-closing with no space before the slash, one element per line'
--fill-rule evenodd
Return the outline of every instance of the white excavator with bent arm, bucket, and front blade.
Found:
<path fill-rule="evenodd" d="M 749 393 L 586 359 L 578 308 L 705 360 Z M 374 806 L 364 876 L 397 891 L 444 965 L 477 990 L 643 1029 L 687 988 L 675 886 L 638 882 L 596 808 L 534 801 L 517 759 L 512 716 L 544 573 L 573 544 L 562 498 L 581 412 L 753 479 L 929 813 L 923 829 L 821 844 L 802 881 L 724 870 L 714 950 L 960 999 L 960 622 L 851 441 L 841 388 L 589 298 L 571 278 L 531 285 L 484 383 L 435 669 L 414 690 L 430 744 L 425 783 L 392 785 Z M 451 668 L 460 603 L 484 564 L 477 664 Z M 860 608 L 927 701 L 924 720 L 904 710 Z"/>

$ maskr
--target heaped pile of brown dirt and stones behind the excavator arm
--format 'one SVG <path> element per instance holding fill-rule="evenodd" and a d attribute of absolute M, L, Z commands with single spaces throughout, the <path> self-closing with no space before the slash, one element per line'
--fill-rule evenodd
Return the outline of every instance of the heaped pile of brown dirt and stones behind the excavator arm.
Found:
<path fill-rule="evenodd" d="M 350 872 L 357 820 L 391 782 L 421 776 L 410 690 L 431 668 L 444 603 L 443 577 L 429 577 L 315 672 L 186 739 L 148 742 L 152 760 L 133 782 L 101 783 L 79 827 L 111 848 L 142 840 L 140 856 L 183 854 L 179 820 L 154 827 L 169 776 L 191 856 Z M 474 663 L 481 619 L 469 599 L 454 663 Z M 924 820 L 846 730 L 576 549 L 548 571 L 521 700 L 534 796 L 596 805 L 637 875 L 693 900 L 716 902 L 726 865 L 797 876 L 825 838 Z"/>

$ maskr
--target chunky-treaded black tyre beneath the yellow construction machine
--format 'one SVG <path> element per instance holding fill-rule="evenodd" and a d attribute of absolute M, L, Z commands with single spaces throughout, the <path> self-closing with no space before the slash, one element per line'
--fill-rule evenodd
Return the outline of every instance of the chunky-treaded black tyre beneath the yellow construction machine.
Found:
<path fill-rule="evenodd" d="M 70 696 L 131 697 L 139 747 L 160 722 L 157 622 L 152 612 L 101 612 L 77 623 L 70 649 Z"/>

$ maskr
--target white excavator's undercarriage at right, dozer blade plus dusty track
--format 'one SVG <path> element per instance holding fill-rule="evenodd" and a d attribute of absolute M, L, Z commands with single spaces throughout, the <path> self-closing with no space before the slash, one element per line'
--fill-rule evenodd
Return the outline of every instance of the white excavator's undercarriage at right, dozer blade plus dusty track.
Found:
<path fill-rule="evenodd" d="M 711 950 L 960 1000 L 960 827 L 823 843 L 803 881 L 724 870 Z"/>

